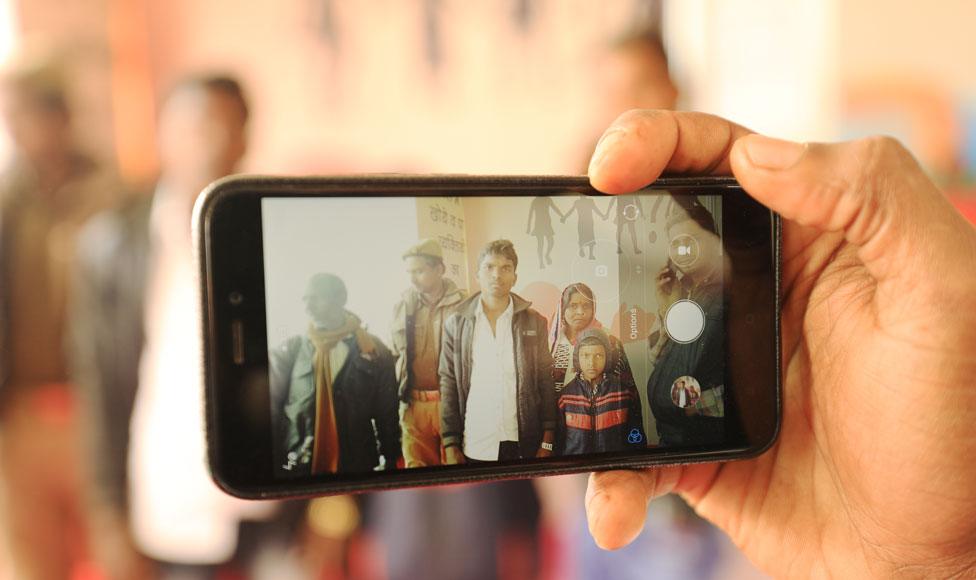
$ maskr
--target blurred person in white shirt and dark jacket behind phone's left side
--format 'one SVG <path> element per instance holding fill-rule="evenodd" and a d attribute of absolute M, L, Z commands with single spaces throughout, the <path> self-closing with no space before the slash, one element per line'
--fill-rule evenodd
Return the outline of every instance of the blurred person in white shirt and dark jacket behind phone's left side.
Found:
<path fill-rule="evenodd" d="M 75 371 L 110 578 L 148 574 L 138 554 L 160 578 L 282 577 L 293 566 L 300 506 L 233 499 L 206 465 L 190 218 L 199 192 L 244 156 L 248 115 L 233 78 L 180 82 L 159 118 L 154 195 L 96 217 L 80 244 Z"/>

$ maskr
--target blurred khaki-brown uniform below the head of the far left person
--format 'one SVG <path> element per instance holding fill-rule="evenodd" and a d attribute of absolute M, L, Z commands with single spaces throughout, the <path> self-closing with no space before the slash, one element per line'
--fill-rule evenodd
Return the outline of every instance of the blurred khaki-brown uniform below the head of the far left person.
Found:
<path fill-rule="evenodd" d="M 0 176 L 0 523 L 16 577 L 66 578 L 85 557 L 66 321 L 76 237 L 119 193 L 81 155 L 54 191 L 26 167 Z"/>

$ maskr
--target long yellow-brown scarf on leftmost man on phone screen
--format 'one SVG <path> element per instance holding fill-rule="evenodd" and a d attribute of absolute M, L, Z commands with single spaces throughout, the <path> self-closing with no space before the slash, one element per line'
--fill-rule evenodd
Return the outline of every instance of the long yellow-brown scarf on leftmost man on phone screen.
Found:
<path fill-rule="evenodd" d="M 356 335 L 361 354 L 367 357 L 372 355 L 375 345 L 353 314 L 346 313 L 346 322 L 335 330 L 322 330 L 314 325 L 309 325 L 308 328 L 308 339 L 315 347 L 313 372 L 316 413 L 312 473 L 335 473 L 339 470 L 339 428 L 336 423 L 329 354 L 340 340 L 350 334 Z"/>

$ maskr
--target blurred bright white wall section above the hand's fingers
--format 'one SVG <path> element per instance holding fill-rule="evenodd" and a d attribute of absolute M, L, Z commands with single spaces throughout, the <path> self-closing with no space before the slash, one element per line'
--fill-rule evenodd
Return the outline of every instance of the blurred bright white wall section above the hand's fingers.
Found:
<path fill-rule="evenodd" d="M 836 0 L 664 3 L 682 108 L 803 141 L 836 134 Z M 853 4 L 853 3 L 852 3 Z"/>

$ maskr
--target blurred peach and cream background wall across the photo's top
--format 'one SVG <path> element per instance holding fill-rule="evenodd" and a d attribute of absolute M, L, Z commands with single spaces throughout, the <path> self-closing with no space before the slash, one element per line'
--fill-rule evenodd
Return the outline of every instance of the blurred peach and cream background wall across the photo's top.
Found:
<path fill-rule="evenodd" d="M 974 179 L 965 0 L 4 0 L 0 51 L 67 53 L 82 131 L 151 176 L 158 97 L 230 70 L 262 172 L 579 172 L 612 114 L 601 49 L 659 26 L 682 108 L 796 139 L 894 134 L 945 185 Z"/>

